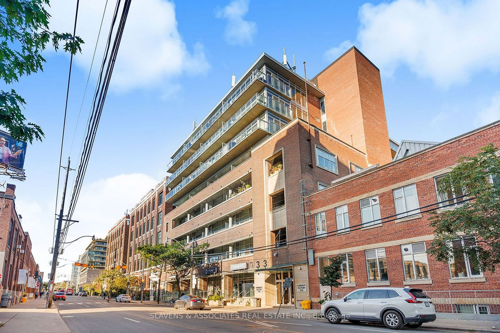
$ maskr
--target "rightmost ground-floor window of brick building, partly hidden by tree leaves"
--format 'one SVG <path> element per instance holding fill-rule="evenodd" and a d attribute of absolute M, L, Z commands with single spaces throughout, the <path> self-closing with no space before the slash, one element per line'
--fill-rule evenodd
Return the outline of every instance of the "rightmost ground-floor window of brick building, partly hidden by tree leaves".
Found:
<path fill-rule="evenodd" d="M 464 248 L 472 246 L 476 246 L 473 235 L 463 236 L 451 242 L 453 259 L 449 261 L 449 272 L 452 279 L 482 276 L 479 267 L 463 254 Z"/>

